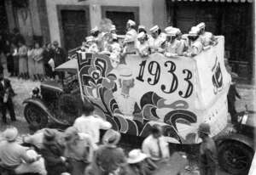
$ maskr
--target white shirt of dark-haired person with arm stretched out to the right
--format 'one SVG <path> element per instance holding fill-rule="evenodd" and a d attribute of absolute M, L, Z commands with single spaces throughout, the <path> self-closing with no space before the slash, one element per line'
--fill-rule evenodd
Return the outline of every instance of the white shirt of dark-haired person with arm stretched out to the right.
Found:
<path fill-rule="evenodd" d="M 73 127 L 76 127 L 79 133 L 90 134 L 92 142 L 96 144 L 100 141 L 100 129 L 110 129 L 112 125 L 95 116 L 80 116 L 74 121 Z"/>

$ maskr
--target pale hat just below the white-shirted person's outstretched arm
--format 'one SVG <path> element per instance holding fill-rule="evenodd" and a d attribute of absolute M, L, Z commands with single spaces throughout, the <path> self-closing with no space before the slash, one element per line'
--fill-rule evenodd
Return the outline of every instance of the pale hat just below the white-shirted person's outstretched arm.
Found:
<path fill-rule="evenodd" d="M 114 131 L 113 129 L 109 129 L 103 136 L 102 141 L 103 144 L 114 147 L 116 144 L 119 143 L 119 140 L 121 138 L 121 134 Z"/>

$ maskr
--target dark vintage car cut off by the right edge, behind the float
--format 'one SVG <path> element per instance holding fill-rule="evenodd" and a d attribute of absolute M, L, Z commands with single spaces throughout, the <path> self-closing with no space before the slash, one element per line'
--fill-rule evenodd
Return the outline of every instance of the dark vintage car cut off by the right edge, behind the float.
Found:
<path fill-rule="evenodd" d="M 237 113 L 237 123 L 216 138 L 219 165 L 231 174 L 247 174 L 255 151 L 255 117 L 252 110 Z"/>

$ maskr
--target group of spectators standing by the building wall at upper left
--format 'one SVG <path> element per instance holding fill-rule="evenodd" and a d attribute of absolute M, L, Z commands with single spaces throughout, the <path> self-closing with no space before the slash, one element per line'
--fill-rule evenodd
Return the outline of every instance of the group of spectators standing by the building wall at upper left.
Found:
<path fill-rule="evenodd" d="M 0 34 L 0 54 L 6 57 L 9 76 L 41 82 L 57 78 L 55 67 L 67 58 L 58 42 L 26 41 L 16 28 L 11 34 Z"/>

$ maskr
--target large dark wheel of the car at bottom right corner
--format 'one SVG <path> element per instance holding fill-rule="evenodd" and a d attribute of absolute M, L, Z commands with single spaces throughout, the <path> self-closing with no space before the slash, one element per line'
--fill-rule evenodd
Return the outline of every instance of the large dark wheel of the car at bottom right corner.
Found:
<path fill-rule="evenodd" d="M 253 150 L 237 141 L 224 142 L 218 148 L 220 167 L 231 174 L 247 174 L 253 160 Z"/>

